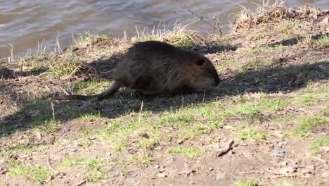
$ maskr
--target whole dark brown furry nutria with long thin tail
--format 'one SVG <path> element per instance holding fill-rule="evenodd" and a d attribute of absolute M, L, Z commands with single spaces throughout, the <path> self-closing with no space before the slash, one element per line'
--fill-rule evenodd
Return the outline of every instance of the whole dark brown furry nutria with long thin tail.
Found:
<path fill-rule="evenodd" d="M 101 94 L 66 95 L 58 99 L 97 98 L 101 101 L 120 87 L 147 96 L 204 91 L 218 84 L 217 70 L 205 56 L 165 42 L 148 41 L 138 42 L 128 49 L 122 61 L 117 63 L 114 83 L 109 89 Z"/>

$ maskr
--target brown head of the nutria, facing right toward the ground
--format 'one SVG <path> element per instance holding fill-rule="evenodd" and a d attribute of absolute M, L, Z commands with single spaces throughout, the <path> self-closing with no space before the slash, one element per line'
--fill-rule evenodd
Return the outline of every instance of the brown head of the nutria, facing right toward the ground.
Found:
<path fill-rule="evenodd" d="M 191 61 L 188 72 L 188 86 L 198 91 L 219 85 L 217 70 L 208 58 L 200 56 Z"/>

